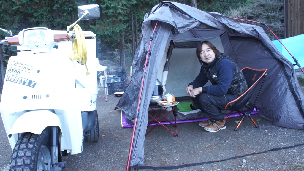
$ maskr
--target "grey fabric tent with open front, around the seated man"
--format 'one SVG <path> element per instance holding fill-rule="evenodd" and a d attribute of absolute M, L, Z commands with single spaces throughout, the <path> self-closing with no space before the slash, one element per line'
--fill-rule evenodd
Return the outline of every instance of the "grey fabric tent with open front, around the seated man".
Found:
<path fill-rule="evenodd" d="M 268 68 L 256 103 L 260 113 L 274 125 L 304 129 L 303 93 L 295 68 L 271 42 L 260 26 L 238 23 L 219 13 L 203 12 L 177 2 L 161 2 L 145 15 L 142 37 L 133 58 L 132 77 L 117 107 L 134 120 L 127 170 L 143 164 L 147 111 L 156 79 L 175 98 L 199 72 L 195 48 L 209 40 L 240 68 Z M 171 45 L 171 46 L 170 46 Z M 166 80 L 167 54 L 171 53 Z"/>

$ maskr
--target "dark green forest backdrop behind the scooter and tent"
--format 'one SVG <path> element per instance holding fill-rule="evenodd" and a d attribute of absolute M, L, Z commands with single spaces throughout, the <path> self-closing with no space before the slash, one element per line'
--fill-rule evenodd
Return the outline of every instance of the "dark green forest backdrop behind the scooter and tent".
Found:
<path fill-rule="evenodd" d="M 174 1 L 191 5 L 191 0 Z M 29 27 L 43 26 L 52 30 L 66 30 L 66 26 L 78 19 L 79 5 L 99 4 L 101 17 L 83 20 L 79 25 L 82 30 L 90 30 L 97 35 L 99 59 L 109 59 L 124 66 L 120 57 L 125 54 L 126 66 L 130 66 L 141 35 L 143 17 L 160 2 L 159 0 L 0 0 L 0 27 L 12 30 L 14 35 Z M 233 18 L 266 22 L 279 38 L 282 38 L 283 0 L 204 0 L 197 1 L 197 8 L 219 12 Z M 5 33 L 0 32 L 1 40 L 5 36 L 7 36 Z M 7 50 L 4 52 L 7 58 Z"/>

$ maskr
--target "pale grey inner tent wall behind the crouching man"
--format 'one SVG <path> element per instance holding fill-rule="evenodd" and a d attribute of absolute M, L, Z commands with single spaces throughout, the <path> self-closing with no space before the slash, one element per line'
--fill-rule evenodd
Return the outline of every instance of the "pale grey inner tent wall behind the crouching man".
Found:
<path fill-rule="evenodd" d="M 170 93 L 175 97 L 188 96 L 185 94 L 185 89 L 188 84 L 196 78 L 201 68 L 196 56 L 196 45 L 200 41 L 209 40 L 220 52 L 225 53 L 221 37 L 216 36 L 192 39 L 172 38 L 171 40 L 175 43 L 176 48 L 173 49 L 171 55 L 167 79 L 166 81 L 162 80 L 162 71 L 164 63 L 166 62 L 166 55 L 163 55 L 160 68 L 158 69 L 157 79 L 161 80 L 161 82 L 166 82 L 164 85 L 164 94 Z M 226 46 L 229 45 L 225 45 L 225 47 Z M 167 53 L 167 51 L 165 51 L 165 53 Z M 207 85 L 211 85 L 211 83 L 208 82 Z"/>

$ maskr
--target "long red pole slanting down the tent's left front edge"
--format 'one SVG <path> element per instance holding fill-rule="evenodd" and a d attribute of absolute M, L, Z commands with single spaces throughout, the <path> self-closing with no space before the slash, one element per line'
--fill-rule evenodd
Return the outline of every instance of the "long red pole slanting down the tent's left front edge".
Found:
<path fill-rule="evenodd" d="M 127 161 L 126 171 L 130 171 L 130 163 L 131 163 L 131 157 L 132 157 L 132 151 L 133 151 L 133 145 L 134 145 L 134 138 L 135 138 L 135 132 L 136 132 L 136 126 L 137 126 L 137 118 L 138 118 L 138 115 L 139 115 L 139 107 L 140 107 L 141 95 L 142 95 L 142 92 L 143 92 L 143 82 L 144 82 L 144 79 L 145 79 L 145 73 L 146 73 L 146 68 L 147 68 L 147 61 L 148 61 L 148 57 L 149 57 L 149 54 L 150 54 L 150 47 L 151 47 L 152 40 L 154 38 L 154 32 L 155 32 L 157 23 L 158 23 L 158 21 L 156 21 L 153 33 L 150 36 L 150 43 L 149 43 L 149 48 L 148 48 L 148 51 L 147 51 L 145 67 L 143 69 L 144 74 L 143 74 L 142 81 L 141 81 L 141 84 L 140 84 L 140 91 L 139 91 L 139 97 L 138 97 L 138 102 L 137 102 L 136 115 L 135 115 L 135 118 L 134 118 L 134 126 L 133 126 L 133 131 L 132 131 L 132 136 L 131 136 L 131 143 L 130 143 L 130 148 L 129 148 L 129 154 L 128 154 L 128 161 Z"/>

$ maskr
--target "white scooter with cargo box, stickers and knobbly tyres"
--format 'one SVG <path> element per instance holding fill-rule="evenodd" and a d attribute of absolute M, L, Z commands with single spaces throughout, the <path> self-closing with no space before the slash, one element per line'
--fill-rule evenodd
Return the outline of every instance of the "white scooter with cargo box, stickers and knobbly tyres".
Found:
<path fill-rule="evenodd" d="M 61 171 L 63 155 L 81 153 L 84 139 L 98 141 L 96 35 L 76 23 L 98 18 L 99 5 L 79 6 L 78 16 L 67 31 L 28 28 L 0 42 L 18 46 L 0 103 L 10 171 Z"/>

